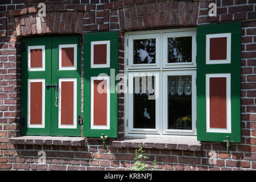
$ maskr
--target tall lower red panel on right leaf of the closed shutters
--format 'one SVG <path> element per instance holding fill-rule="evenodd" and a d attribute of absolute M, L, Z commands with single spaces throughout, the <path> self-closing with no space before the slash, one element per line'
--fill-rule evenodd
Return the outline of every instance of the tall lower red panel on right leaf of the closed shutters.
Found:
<path fill-rule="evenodd" d="M 73 125 L 74 82 L 61 82 L 61 125 Z"/>

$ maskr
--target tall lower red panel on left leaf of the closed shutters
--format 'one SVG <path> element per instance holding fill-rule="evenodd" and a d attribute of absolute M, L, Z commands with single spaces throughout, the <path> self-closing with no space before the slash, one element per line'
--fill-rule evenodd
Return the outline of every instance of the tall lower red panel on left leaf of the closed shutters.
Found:
<path fill-rule="evenodd" d="M 30 82 L 30 124 L 42 124 L 42 82 Z"/>

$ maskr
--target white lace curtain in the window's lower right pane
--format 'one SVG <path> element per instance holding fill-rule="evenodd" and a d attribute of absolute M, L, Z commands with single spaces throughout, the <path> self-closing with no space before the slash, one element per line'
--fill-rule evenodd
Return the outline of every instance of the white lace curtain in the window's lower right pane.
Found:
<path fill-rule="evenodd" d="M 190 96 L 191 89 L 191 76 L 168 76 L 168 94 Z"/>

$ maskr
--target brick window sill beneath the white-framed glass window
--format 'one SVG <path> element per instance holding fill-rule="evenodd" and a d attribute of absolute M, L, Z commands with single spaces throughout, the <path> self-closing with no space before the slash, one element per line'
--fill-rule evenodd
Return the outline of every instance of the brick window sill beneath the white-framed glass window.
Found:
<path fill-rule="evenodd" d="M 113 147 L 139 148 L 139 143 L 143 148 L 170 149 L 201 151 L 203 144 L 196 139 L 176 139 L 176 138 L 120 138 L 113 140 Z"/>

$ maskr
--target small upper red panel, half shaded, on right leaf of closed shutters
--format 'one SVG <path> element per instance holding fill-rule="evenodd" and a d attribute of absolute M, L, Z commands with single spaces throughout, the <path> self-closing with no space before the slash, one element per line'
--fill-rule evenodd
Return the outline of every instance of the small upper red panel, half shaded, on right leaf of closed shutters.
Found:
<path fill-rule="evenodd" d="M 65 47 L 61 48 L 61 67 L 74 66 L 74 48 Z"/>

